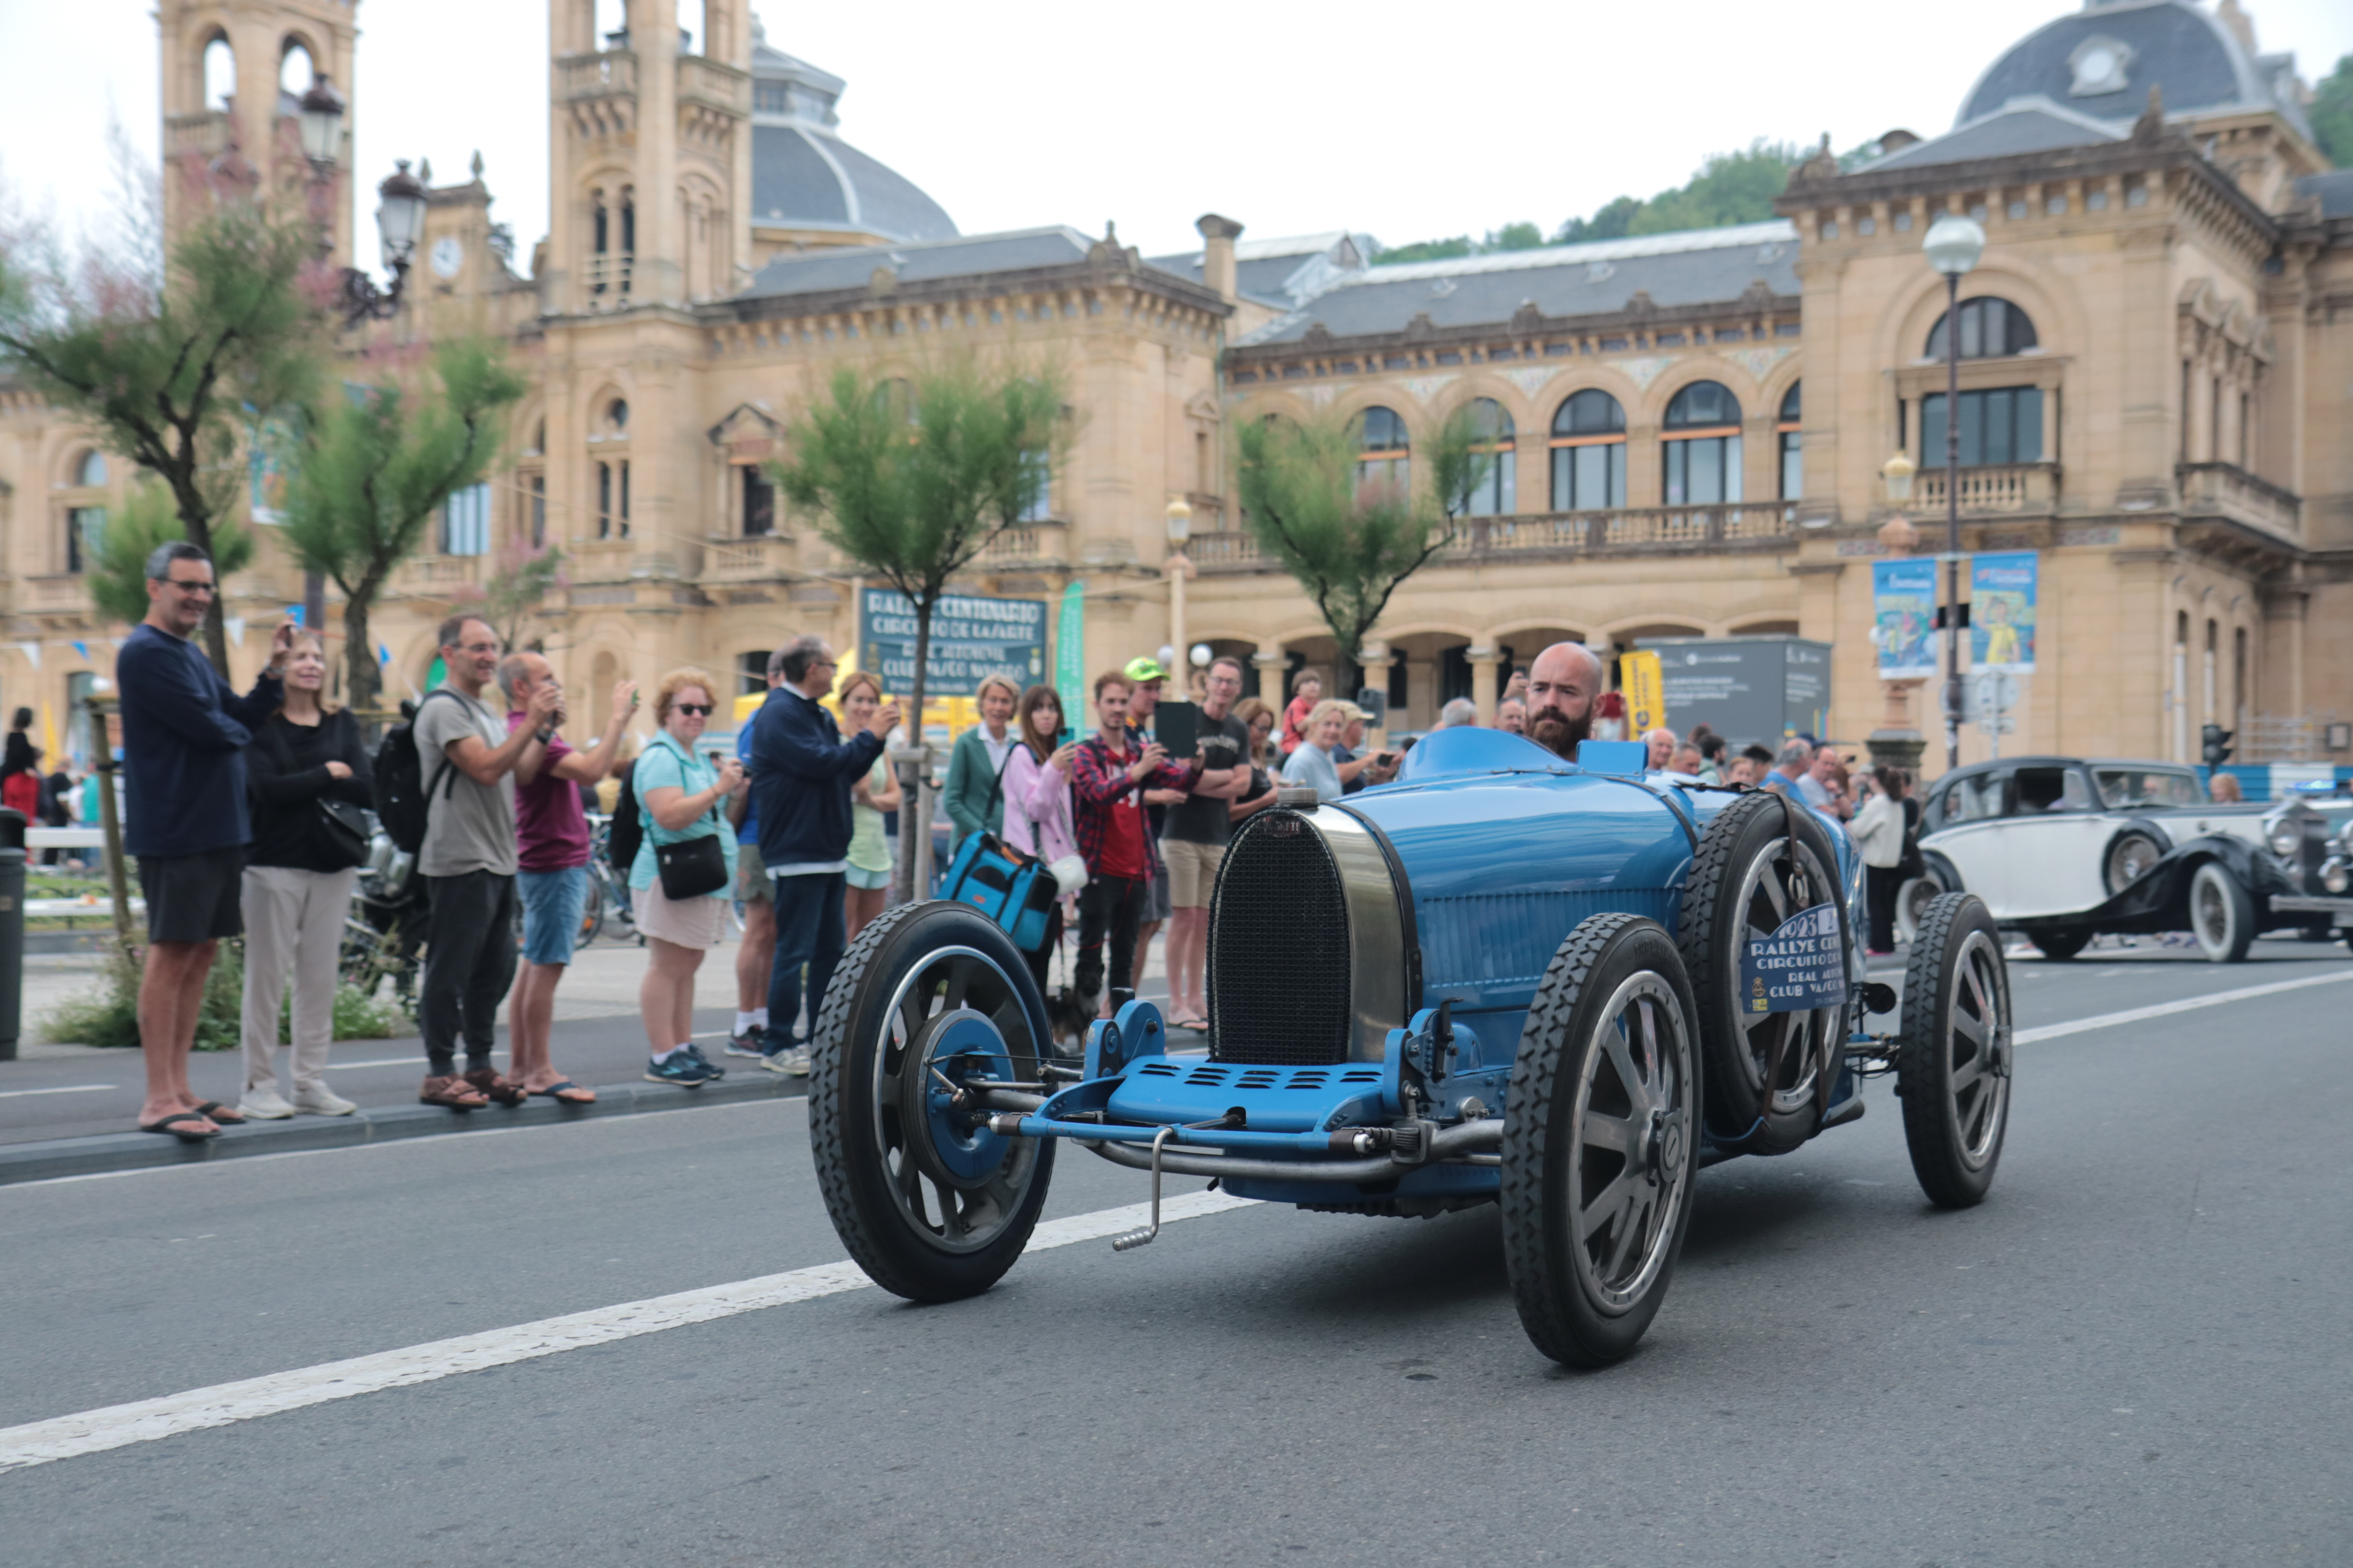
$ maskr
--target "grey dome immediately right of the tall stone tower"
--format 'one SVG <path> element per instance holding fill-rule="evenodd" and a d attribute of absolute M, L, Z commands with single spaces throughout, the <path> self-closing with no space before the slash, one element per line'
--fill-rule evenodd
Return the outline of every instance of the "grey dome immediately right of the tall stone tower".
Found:
<path fill-rule="evenodd" d="M 955 223 L 915 181 L 835 134 L 842 78 L 767 45 L 753 24 L 753 228 L 838 233 L 845 240 L 953 240 Z"/>

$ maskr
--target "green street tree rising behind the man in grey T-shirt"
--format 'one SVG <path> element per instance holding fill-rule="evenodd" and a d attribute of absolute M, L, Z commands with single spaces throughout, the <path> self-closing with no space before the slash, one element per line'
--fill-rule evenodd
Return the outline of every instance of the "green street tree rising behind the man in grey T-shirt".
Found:
<path fill-rule="evenodd" d="M 494 343 L 452 339 L 412 383 L 346 383 L 301 421 L 282 534 L 304 571 L 344 590 L 353 708 L 372 708 L 384 684 L 367 632 L 384 583 L 424 543 L 433 512 L 489 468 L 525 390 Z"/>

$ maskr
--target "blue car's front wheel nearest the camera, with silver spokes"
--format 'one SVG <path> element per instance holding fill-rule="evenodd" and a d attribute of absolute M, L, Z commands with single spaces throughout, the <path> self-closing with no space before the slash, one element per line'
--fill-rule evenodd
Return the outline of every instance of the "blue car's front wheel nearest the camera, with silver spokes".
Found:
<path fill-rule="evenodd" d="M 1699 1175 L 1694 1009 L 1657 922 L 1593 914 L 1520 1032 L 1504 1265 L 1527 1338 L 1565 1366 L 1619 1361 L 1666 1300 Z"/>

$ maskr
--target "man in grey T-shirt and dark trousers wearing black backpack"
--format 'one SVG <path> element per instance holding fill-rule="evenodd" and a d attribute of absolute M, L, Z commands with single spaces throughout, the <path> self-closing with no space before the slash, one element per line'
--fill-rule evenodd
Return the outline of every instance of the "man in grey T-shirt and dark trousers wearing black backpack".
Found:
<path fill-rule="evenodd" d="M 424 696 L 412 726 L 426 778 L 416 872 L 433 898 L 416 1009 L 426 1081 L 416 1098 L 449 1110 L 520 1105 L 522 1086 L 489 1065 L 499 999 L 515 980 L 515 766 L 546 764 L 562 689 L 539 682 L 522 701 L 525 722 L 508 731 L 506 715 L 482 701 L 499 672 L 499 632 L 480 616 L 449 616 L 440 644 L 449 679 Z"/>

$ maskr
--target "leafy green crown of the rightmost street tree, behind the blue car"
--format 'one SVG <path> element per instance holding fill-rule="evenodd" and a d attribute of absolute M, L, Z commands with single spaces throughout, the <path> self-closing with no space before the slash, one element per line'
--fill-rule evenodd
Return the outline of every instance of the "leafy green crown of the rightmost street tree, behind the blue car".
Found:
<path fill-rule="evenodd" d="M 1426 484 L 1398 487 L 1358 473 L 1362 418 L 1240 428 L 1242 520 L 1299 578 L 1344 661 L 1358 658 L 1398 585 L 1454 543 L 1457 517 L 1497 461 L 1487 442 L 1459 409 L 1414 451 Z"/>

